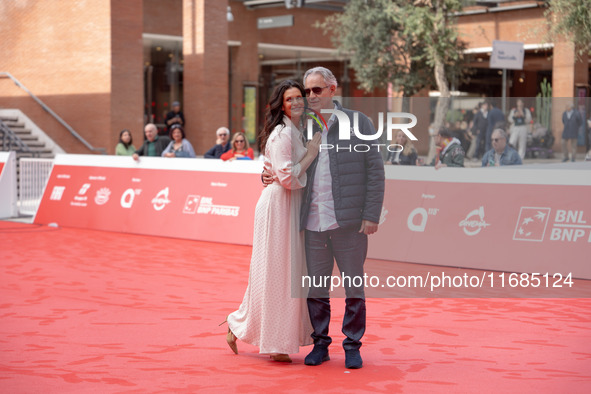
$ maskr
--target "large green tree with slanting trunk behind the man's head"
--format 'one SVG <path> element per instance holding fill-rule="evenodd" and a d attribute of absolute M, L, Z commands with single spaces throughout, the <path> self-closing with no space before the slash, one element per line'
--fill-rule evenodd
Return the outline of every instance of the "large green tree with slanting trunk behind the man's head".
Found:
<path fill-rule="evenodd" d="M 436 86 L 435 117 L 441 125 L 449 106 L 450 80 L 463 75 L 463 49 L 454 13 L 462 0 L 351 0 L 341 14 L 320 24 L 335 46 L 350 56 L 366 91 L 392 84 L 404 96 Z"/>

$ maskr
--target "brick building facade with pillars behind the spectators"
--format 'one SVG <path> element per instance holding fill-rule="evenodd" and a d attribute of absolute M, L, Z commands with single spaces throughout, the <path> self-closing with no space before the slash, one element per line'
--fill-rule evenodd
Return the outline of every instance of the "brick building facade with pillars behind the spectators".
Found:
<path fill-rule="evenodd" d="M 258 129 L 273 84 L 282 78 L 301 78 L 307 68 L 316 65 L 335 72 L 343 82 L 340 94 L 363 95 L 354 73 L 333 50 L 330 37 L 314 27 L 342 2 L 289 10 L 282 1 L 247 7 L 254 3 L 3 2 L 0 72 L 12 74 L 90 144 L 110 154 L 123 128 L 132 131 L 139 146 L 143 125 L 149 120 L 161 123 L 174 100 L 182 103 L 187 137 L 202 154 L 214 143 L 219 126 L 232 131 Z M 524 70 L 510 72 L 509 97 L 535 96 L 544 76 L 552 81 L 554 97 L 574 97 L 577 87 L 586 88 L 589 96 L 588 58 L 577 59 L 574 48 L 565 42 L 543 45 L 541 34 L 531 34 L 543 26 L 540 4 L 505 2 L 496 12 L 473 7 L 459 17 L 460 33 L 469 44 L 475 70 L 461 90 L 500 95 L 500 77 L 496 70 L 488 70 L 492 40 L 520 40 L 526 44 Z M 232 22 L 227 19 L 228 7 Z M 290 16 L 291 26 L 257 27 L 261 18 L 287 17 L 289 24 Z M 21 109 L 65 151 L 90 153 L 7 79 L 0 79 L 0 107 Z M 556 114 L 562 110 L 554 109 Z M 559 134 L 560 117 L 553 118 L 555 134 Z M 426 130 L 418 130 L 421 133 Z"/>

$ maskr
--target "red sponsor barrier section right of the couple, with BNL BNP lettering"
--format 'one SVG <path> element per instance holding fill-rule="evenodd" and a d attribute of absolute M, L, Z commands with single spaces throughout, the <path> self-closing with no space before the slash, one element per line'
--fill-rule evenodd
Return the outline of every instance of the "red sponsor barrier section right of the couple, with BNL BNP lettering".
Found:
<path fill-rule="evenodd" d="M 562 169 L 386 166 L 369 257 L 591 279 L 591 163 Z"/>

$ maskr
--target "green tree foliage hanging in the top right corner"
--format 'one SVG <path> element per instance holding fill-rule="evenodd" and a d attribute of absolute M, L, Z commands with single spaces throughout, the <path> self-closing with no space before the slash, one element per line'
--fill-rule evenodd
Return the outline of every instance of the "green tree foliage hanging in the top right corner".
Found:
<path fill-rule="evenodd" d="M 575 44 L 579 53 L 591 45 L 591 0 L 549 0 L 545 12 L 549 41 L 564 37 Z"/>

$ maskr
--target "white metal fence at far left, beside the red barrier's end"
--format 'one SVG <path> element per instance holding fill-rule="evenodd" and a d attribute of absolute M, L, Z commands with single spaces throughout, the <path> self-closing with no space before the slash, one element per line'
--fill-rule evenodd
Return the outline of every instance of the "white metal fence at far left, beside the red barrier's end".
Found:
<path fill-rule="evenodd" d="M 21 215 L 37 213 L 52 167 L 53 159 L 23 157 L 19 160 L 19 213 Z"/>

